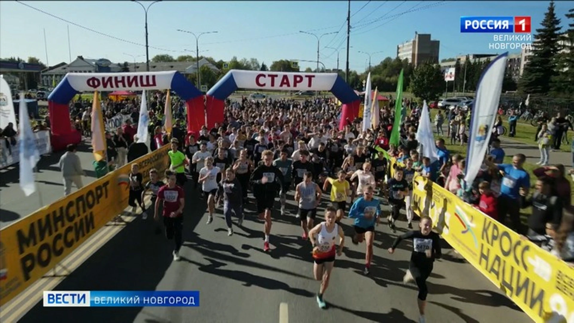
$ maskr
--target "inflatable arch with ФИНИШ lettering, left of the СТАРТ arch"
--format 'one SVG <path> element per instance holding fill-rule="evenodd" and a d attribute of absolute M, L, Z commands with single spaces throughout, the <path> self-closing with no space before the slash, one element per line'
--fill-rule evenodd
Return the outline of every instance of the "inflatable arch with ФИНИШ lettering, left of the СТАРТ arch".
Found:
<path fill-rule="evenodd" d="M 185 101 L 190 116 L 204 115 L 204 97 L 185 76 L 177 71 L 139 73 L 68 73 L 48 97 L 52 128 L 51 143 L 55 151 L 77 144 L 82 135 L 70 123 L 69 101 L 80 92 L 141 91 L 171 89 Z M 194 120 L 196 118 L 193 118 Z M 190 124 L 188 129 L 204 124 Z"/>

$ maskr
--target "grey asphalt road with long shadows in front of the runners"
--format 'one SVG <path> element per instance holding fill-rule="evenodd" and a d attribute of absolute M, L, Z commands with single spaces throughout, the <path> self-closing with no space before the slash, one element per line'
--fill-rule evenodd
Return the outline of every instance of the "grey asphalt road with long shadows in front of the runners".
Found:
<path fill-rule="evenodd" d="M 397 234 L 377 227 L 369 276 L 362 274 L 364 244 L 347 239 L 324 296 L 329 307 L 321 310 L 314 297 L 319 282 L 312 279 L 311 246 L 301 240 L 292 215 L 274 212 L 272 251 L 264 253 L 263 224 L 255 220 L 253 204 L 247 206 L 245 226 L 228 237 L 221 210 L 205 224 L 205 202 L 190 186 L 180 262 L 172 260 L 172 244 L 154 234 L 154 222 L 137 218 L 56 289 L 199 290 L 199 307 L 58 308 L 38 302 L 19 322 L 267 323 L 287 322 L 285 316 L 289 322 L 418 322 L 416 287 L 402 283 L 412 245 L 402 243 L 394 255 L 386 251 L 406 230 L 404 222 Z M 294 206 L 289 210 L 293 213 Z M 350 220 L 344 223 L 350 233 Z M 428 280 L 428 322 L 530 321 L 446 244 L 443 253 L 445 259 L 435 263 Z"/>

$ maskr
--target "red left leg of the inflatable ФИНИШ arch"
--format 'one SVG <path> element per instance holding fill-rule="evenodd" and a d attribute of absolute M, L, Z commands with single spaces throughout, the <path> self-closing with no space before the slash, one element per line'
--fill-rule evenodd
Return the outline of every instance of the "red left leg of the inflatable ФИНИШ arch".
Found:
<path fill-rule="evenodd" d="M 48 115 L 53 151 L 63 150 L 68 144 L 79 144 L 82 141 L 82 134 L 72 128 L 68 105 L 48 101 Z"/>

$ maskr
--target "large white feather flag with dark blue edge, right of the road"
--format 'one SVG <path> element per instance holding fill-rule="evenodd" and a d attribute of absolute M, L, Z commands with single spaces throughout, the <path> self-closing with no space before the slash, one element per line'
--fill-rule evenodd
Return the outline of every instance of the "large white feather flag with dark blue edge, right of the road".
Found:
<path fill-rule="evenodd" d="M 492 126 L 497 118 L 507 57 L 508 52 L 495 58 L 480 76 L 470 123 L 467 169 L 464 176 L 467 183 L 472 183 L 476 178 L 488 148 Z"/>

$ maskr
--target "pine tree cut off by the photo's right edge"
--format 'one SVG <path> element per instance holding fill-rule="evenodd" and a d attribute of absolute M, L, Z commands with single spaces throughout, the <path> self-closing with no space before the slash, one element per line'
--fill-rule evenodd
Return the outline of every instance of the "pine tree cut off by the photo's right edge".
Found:
<path fill-rule="evenodd" d="M 552 79 L 552 90 L 556 95 L 574 96 L 574 9 L 565 16 L 571 19 L 568 30 L 560 39 L 557 72 Z"/>

